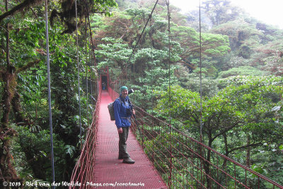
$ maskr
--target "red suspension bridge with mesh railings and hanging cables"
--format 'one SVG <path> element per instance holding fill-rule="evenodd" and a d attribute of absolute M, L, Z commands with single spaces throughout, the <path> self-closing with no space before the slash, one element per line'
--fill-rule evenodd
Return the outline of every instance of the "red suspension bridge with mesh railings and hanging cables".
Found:
<path fill-rule="evenodd" d="M 45 1 L 45 14 L 47 18 L 47 1 Z M 169 11 L 168 18 L 170 18 Z M 48 25 L 46 28 L 48 31 Z M 168 19 L 168 32 L 168 60 L 170 60 L 170 19 Z M 141 36 L 142 32 L 139 39 Z M 76 43 L 78 45 L 78 37 Z M 47 54 L 49 54 L 48 40 Z M 47 73 L 50 78 L 48 57 L 49 55 L 47 55 Z M 132 55 L 129 59 L 131 57 Z M 77 59 L 79 68 L 79 53 Z M 168 65 L 170 73 L 170 61 Z M 283 188 L 279 183 L 191 138 L 171 123 L 156 118 L 138 106 L 134 106 L 137 120 L 132 120 L 127 141 L 129 154 L 136 163 L 122 164 L 122 160 L 118 159 L 117 128 L 114 121 L 110 121 L 107 109 L 107 104 L 114 101 L 119 94 L 113 90 L 115 83 L 110 80 L 108 72 L 106 78 L 107 90 L 102 90 L 102 75 L 98 79 L 98 98 L 96 109 L 93 111 L 93 121 L 87 128 L 86 140 L 83 142 L 81 155 L 71 175 L 69 188 L 112 188 L 114 186 L 120 188 Z M 50 88 L 50 79 L 48 83 Z M 49 104 L 51 106 L 50 90 Z M 52 136 L 51 116 L 50 133 Z M 53 159 L 52 162 L 54 162 Z M 52 170 L 54 181 L 54 164 L 52 164 Z"/>

